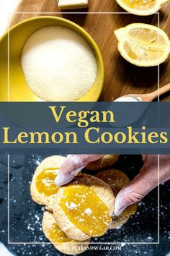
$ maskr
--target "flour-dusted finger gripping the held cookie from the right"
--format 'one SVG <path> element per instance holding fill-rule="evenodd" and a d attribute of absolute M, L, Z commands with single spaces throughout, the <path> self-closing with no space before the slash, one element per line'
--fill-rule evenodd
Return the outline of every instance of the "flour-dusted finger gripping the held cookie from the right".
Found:
<path fill-rule="evenodd" d="M 158 184 L 170 179 L 170 155 L 143 155 L 143 162 L 140 174 L 118 193 L 115 199 L 116 216 L 119 216 L 128 205 L 140 202 Z"/>

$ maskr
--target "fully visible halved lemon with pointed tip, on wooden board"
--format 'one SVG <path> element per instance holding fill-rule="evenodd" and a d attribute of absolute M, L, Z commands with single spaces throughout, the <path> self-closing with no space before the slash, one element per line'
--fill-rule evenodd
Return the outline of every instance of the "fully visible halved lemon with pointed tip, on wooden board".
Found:
<path fill-rule="evenodd" d="M 157 66 L 169 56 L 168 35 L 153 25 L 133 23 L 115 30 L 115 36 L 122 57 L 136 66 Z"/>

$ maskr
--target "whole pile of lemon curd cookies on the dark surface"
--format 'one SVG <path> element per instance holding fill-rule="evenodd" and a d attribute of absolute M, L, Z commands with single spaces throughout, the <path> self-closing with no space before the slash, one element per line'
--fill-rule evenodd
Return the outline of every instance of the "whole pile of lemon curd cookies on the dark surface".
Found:
<path fill-rule="evenodd" d="M 107 155 L 86 166 L 89 170 L 109 168 L 118 156 Z M 54 183 L 66 158 L 53 155 L 37 167 L 31 183 L 32 200 L 45 205 L 42 230 L 56 249 L 68 255 L 84 252 L 91 237 L 104 235 L 128 221 L 135 213 L 130 206 L 113 217 L 115 196 L 130 180 L 122 171 L 109 169 L 96 176 L 79 174 L 73 182 L 57 187 Z"/>

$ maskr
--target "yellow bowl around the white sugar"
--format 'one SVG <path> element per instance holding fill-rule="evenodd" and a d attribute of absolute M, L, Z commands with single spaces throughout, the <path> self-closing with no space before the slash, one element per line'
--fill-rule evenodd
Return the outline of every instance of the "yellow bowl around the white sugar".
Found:
<path fill-rule="evenodd" d="M 24 43 L 41 27 L 62 25 L 83 36 L 97 59 L 97 78 L 91 89 L 78 101 L 97 101 L 102 93 L 104 63 L 97 43 L 82 27 L 60 17 L 34 17 L 14 25 L 0 40 L 0 101 L 42 101 L 27 85 L 21 66 Z M 9 54 L 8 54 L 9 52 Z"/>

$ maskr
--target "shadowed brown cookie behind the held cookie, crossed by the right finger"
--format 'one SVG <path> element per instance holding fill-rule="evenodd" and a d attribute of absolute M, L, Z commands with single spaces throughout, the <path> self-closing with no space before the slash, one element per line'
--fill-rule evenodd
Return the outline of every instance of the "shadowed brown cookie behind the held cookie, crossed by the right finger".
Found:
<path fill-rule="evenodd" d="M 116 197 L 120 189 L 127 186 L 130 183 L 130 179 L 126 174 L 122 171 L 118 171 L 115 169 L 100 171 L 99 174 L 96 175 L 97 178 L 102 179 L 104 182 L 109 184 L 112 187 L 112 191 Z M 112 224 L 109 226 L 109 229 L 116 229 L 119 226 L 125 224 L 130 216 L 135 214 L 137 210 L 137 204 L 130 205 L 128 208 L 124 210 L 124 212 L 120 216 L 112 217 Z"/>

